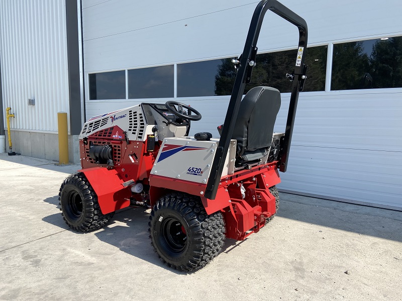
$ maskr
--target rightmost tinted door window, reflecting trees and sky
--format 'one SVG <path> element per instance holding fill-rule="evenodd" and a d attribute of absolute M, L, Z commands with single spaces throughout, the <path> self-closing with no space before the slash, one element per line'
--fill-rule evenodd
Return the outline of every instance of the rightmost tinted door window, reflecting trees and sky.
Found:
<path fill-rule="evenodd" d="M 402 87 L 402 37 L 334 45 L 332 90 Z"/>

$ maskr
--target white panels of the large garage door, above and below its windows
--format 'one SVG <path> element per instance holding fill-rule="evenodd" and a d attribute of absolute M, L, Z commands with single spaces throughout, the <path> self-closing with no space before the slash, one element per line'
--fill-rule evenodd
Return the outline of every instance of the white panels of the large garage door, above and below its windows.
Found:
<path fill-rule="evenodd" d="M 282 0 L 306 19 L 309 45 L 402 35 L 402 2 Z M 85 73 L 242 52 L 258 1 L 84 0 Z M 259 51 L 295 47 L 297 31 L 267 12 Z M 291 70 L 289 70 L 291 71 Z M 86 93 L 88 85 L 86 83 Z M 86 95 L 88 99 L 88 94 Z M 289 94 L 275 125 L 283 131 Z M 402 88 L 300 94 L 282 190 L 402 210 Z M 165 102 L 166 99 L 145 101 Z M 228 96 L 177 98 L 203 114 L 190 134 L 223 123 Z M 140 101 L 86 101 L 86 116 Z"/>

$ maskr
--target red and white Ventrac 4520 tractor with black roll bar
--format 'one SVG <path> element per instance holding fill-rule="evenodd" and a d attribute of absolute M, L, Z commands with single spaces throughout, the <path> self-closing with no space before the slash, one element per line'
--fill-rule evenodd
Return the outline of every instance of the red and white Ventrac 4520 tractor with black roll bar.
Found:
<path fill-rule="evenodd" d="M 257 40 L 267 10 L 299 33 L 284 133 L 274 133 L 281 96 L 255 87 L 243 98 L 256 65 Z M 151 244 L 167 265 L 182 271 L 205 266 L 225 238 L 244 240 L 270 221 L 286 171 L 298 93 L 307 65 L 307 24 L 275 0 L 255 9 L 243 53 L 234 59 L 237 77 L 220 138 L 188 136 L 201 119 L 193 107 L 168 101 L 141 103 L 89 119 L 79 136 L 82 169 L 61 185 L 67 225 L 81 232 L 109 223 L 117 210 L 151 208 Z M 243 98 L 243 99 L 242 99 Z"/>

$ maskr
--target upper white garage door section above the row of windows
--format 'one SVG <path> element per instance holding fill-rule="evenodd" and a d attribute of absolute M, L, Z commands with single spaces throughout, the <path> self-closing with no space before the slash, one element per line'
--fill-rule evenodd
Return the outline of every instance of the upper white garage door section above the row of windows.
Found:
<path fill-rule="evenodd" d="M 400 35 L 402 2 L 282 0 L 309 25 L 309 45 Z M 258 2 L 83 0 L 85 72 L 239 55 Z M 259 51 L 297 46 L 297 29 L 267 12 Z"/>

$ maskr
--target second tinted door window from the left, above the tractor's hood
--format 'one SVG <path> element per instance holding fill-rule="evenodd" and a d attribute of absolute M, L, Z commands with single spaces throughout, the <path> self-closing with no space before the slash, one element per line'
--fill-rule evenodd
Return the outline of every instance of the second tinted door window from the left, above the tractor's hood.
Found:
<path fill-rule="evenodd" d="M 129 70 L 129 98 L 173 97 L 173 73 L 173 65 Z"/>

